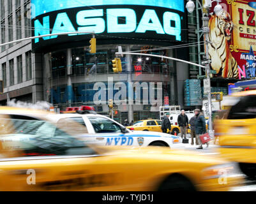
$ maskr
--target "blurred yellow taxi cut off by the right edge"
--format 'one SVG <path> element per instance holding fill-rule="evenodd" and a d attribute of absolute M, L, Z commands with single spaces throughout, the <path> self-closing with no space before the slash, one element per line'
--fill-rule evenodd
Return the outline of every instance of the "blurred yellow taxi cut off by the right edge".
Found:
<path fill-rule="evenodd" d="M 256 91 L 232 94 L 233 105 L 225 119 L 215 121 L 220 153 L 239 163 L 248 177 L 256 176 Z"/>

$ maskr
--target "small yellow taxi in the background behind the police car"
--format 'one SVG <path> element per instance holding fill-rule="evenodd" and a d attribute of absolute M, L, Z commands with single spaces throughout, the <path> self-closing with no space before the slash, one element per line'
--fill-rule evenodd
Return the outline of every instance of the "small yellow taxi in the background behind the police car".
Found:
<path fill-rule="evenodd" d="M 162 120 L 139 120 L 133 124 L 133 126 L 127 126 L 126 128 L 135 131 L 154 131 L 162 133 Z M 171 126 L 170 133 L 172 135 L 178 135 L 180 132 L 179 126 Z M 169 133 L 169 131 L 168 131 Z"/>

